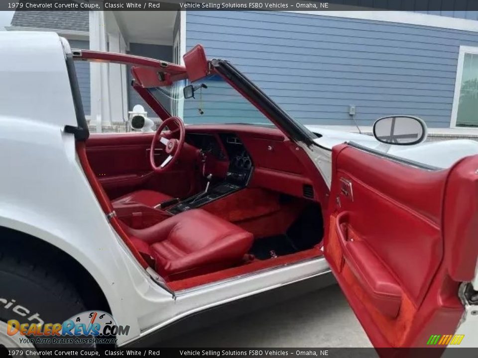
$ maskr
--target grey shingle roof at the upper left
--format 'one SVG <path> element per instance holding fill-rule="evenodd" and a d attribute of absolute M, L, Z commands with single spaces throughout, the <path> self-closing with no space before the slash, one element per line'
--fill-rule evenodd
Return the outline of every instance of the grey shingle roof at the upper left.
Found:
<path fill-rule="evenodd" d="M 89 31 L 88 11 L 15 11 L 11 26 Z"/>

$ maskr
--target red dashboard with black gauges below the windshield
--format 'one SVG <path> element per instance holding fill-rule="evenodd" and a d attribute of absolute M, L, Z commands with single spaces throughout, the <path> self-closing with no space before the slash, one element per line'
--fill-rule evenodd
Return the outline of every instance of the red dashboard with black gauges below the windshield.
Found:
<path fill-rule="evenodd" d="M 263 187 L 293 196 L 307 194 L 308 178 L 300 151 L 277 128 L 253 125 L 189 125 L 186 142 L 201 149 L 229 183 Z M 218 171 L 214 171 L 219 174 Z"/>

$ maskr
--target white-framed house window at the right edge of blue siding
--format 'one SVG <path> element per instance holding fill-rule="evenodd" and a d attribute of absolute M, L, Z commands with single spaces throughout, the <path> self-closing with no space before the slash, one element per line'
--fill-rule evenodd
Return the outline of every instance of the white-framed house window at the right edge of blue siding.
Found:
<path fill-rule="evenodd" d="M 460 46 L 451 127 L 478 127 L 478 47 Z"/>

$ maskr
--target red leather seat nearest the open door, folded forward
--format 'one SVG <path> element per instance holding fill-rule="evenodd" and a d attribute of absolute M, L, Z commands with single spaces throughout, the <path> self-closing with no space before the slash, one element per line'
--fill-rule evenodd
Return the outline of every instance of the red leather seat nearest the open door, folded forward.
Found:
<path fill-rule="evenodd" d="M 242 262 L 253 241 L 251 233 L 202 209 L 185 211 L 146 229 L 124 229 L 166 280 L 233 267 Z"/>

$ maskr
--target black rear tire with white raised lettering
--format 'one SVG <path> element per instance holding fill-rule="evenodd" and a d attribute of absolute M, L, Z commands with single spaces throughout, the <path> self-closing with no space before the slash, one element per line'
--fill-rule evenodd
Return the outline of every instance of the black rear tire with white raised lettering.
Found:
<path fill-rule="evenodd" d="M 55 266 L 54 258 L 45 257 L 32 248 L 16 245 L 0 247 L 0 321 L 39 323 L 38 317 L 44 323 L 63 323 L 73 315 L 86 311 L 80 295 L 62 273 L 61 266 Z M 38 348 L 66 346 L 34 345 Z"/>

